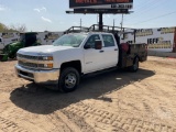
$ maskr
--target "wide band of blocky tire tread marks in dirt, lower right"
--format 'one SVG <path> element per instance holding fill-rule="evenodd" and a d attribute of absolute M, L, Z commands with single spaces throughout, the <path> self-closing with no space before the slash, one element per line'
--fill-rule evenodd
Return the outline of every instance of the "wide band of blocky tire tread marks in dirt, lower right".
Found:
<path fill-rule="evenodd" d="M 165 132 L 175 132 L 176 129 L 169 127 L 167 124 L 163 124 L 160 122 L 151 122 L 146 119 L 138 119 L 131 118 L 130 116 L 121 116 L 114 114 L 108 111 L 98 110 L 91 108 L 84 103 L 73 105 L 69 108 L 65 108 L 62 110 L 63 113 L 68 116 L 70 119 L 75 118 L 75 120 L 86 120 L 94 122 L 95 128 L 98 127 L 98 123 L 102 123 L 105 125 L 110 125 L 113 128 L 111 131 L 165 131 Z M 74 120 L 74 121 L 75 121 Z M 81 124 L 82 122 L 79 122 Z M 108 128 L 108 127 L 107 127 Z M 108 130 L 105 130 L 108 131 Z"/>

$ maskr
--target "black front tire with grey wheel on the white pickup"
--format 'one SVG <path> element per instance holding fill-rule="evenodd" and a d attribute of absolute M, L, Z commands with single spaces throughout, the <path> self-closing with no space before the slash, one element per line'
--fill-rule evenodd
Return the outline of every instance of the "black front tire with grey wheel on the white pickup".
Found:
<path fill-rule="evenodd" d="M 62 70 L 58 79 L 58 89 L 62 92 L 74 91 L 79 85 L 79 73 L 73 67 L 67 67 Z"/>

